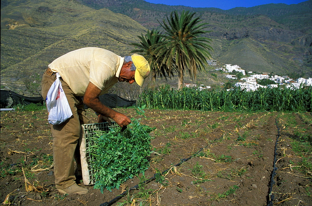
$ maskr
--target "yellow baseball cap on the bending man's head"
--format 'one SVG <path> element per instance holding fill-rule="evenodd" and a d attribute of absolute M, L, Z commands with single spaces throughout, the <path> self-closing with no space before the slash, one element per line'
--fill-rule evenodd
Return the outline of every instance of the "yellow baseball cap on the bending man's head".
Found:
<path fill-rule="evenodd" d="M 147 60 L 142 55 L 133 54 L 131 56 L 131 59 L 132 59 L 134 66 L 136 67 L 135 74 L 134 74 L 135 82 L 140 87 L 142 87 L 145 78 L 149 76 L 151 68 L 149 67 L 149 63 L 147 62 Z"/>

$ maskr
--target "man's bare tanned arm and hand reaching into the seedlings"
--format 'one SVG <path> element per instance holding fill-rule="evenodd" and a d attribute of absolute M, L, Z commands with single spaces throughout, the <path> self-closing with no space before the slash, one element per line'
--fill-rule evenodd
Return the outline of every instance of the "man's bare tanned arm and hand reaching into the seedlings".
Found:
<path fill-rule="evenodd" d="M 131 123 L 131 120 L 124 114 L 119 113 L 100 102 L 99 95 L 101 90 L 94 84 L 89 82 L 87 89 L 85 90 L 85 96 L 83 102 L 96 113 L 100 113 L 101 116 L 109 117 L 115 120 L 115 122 L 120 126 L 127 126 Z"/>

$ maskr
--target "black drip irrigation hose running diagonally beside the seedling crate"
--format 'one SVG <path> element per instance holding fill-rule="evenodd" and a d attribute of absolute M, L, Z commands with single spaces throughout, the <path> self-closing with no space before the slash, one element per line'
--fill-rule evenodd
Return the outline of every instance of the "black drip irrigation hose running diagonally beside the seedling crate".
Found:
<path fill-rule="evenodd" d="M 194 156 L 196 156 L 199 152 L 201 152 L 203 149 L 205 149 L 205 148 L 208 147 L 208 146 L 209 146 L 209 145 L 207 145 L 207 146 L 205 146 L 205 147 L 203 147 L 203 148 L 200 148 L 200 150 L 199 150 L 198 152 L 196 152 L 194 155 L 188 157 L 187 159 L 181 159 L 181 161 L 180 161 L 178 164 L 173 165 L 173 166 L 174 166 L 174 167 L 177 167 L 177 166 L 181 165 L 183 162 L 186 162 L 186 161 L 190 160 L 191 158 L 193 158 Z M 169 169 L 167 169 L 167 170 L 164 170 L 164 171 L 161 173 L 161 175 L 165 174 L 165 173 L 168 172 L 170 169 L 171 169 L 171 168 L 169 168 Z M 135 186 L 133 186 L 133 187 L 130 187 L 127 191 L 124 191 L 122 194 L 119 194 L 117 197 L 115 197 L 114 199 L 112 199 L 112 200 L 109 201 L 109 202 L 105 202 L 105 203 L 100 204 L 100 206 L 109 206 L 109 205 L 115 203 L 117 200 L 119 200 L 119 199 L 121 199 L 122 197 L 124 197 L 129 191 L 134 190 L 134 189 L 138 189 L 138 187 L 139 187 L 140 184 L 148 184 L 149 182 L 155 180 L 157 174 L 159 174 L 159 173 L 154 174 L 154 176 L 153 176 L 152 178 L 148 179 L 148 180 L 145 180 L 145 181 L 143 181 L 143 182 L 141 182 L 141 183 L 139 183 L 139 184 L 137 184 L 137 185 L 135 185 Z"/>

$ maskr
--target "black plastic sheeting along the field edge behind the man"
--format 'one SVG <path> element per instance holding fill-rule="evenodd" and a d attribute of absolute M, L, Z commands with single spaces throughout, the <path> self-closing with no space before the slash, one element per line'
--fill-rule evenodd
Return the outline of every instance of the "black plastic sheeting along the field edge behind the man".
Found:
<path fill-rule="evenodd" d="M 25 97 L 23 95 L 17 94 L 12 91 L 1 90 L 1 108 L 12 107 L 17 104 L 27 105 L 30 103 L 43 103 L 42 97 Z M 130 107 L 136 104 L 135 100 L 128 100 L 122 97 L 119 97 L 116 94 L 103 94 L 99 96 L 100 102 L 110 108 L 116 107 Z M 88 108 L 85 105 L 85 108 Z"/>

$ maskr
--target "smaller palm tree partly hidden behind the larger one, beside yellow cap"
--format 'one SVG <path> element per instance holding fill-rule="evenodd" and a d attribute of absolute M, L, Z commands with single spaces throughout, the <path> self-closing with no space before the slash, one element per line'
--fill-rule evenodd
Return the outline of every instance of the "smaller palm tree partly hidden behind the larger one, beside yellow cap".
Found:
<path fill-rule="evenodd" d="M 160 35 L 160 31 L 152 29 L 152 31 L 147 31 L 147 34 L 143 36 L 138 36 L 140 39 L 140 43 L 131 43 L 130 45 L 136 46 L 139 49 L 134 49 L 131 53 L 139 53 L 140 55 L 144 55 L 146 60 L 149 62 L 150 67 L 152 69 L 152 81 L 155 83 L 156 76 L 165 77 L 167 79 L 167 75 L 169 77 L 173 76 L 173 71 L 168 69 L 166 65 L 161 64 L 161 60 L 156 57 L 154 54 L 154 49 L 160 43 L 163 42 L 164 38 Z"/>

